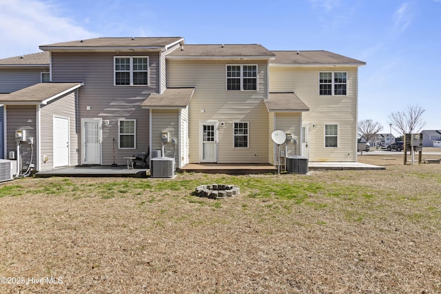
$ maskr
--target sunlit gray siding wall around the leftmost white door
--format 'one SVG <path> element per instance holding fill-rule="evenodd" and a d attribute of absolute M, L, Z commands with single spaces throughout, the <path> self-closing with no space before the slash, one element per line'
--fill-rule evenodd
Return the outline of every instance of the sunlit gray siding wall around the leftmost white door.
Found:
<path fill-rule="evenodd" d="M 48 105 L 41 106 L 40 125 L 41 125 L 41 158 L 40 170 L 47 171 L 54 167 L 53 160 L 53 121 L 54 116 L 69 118 L 70 123 L 70 166 L 79 165 L 78 149 L 80 140 L 78 137 L 79 120 L 76 119 L 75 93 L 71 92 L 54 101 L 50 101 Z M 49 160 L 43 162 L 43 156 L 48 156 Z"/>

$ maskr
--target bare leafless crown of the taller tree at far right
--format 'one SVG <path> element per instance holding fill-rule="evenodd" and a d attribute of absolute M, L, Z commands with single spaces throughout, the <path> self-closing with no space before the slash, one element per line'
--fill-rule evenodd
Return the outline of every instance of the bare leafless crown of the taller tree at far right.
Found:
<path fill-rule="evenodd" d="M 392 124 L 393 129 L 400 134 L 411 134 L 421 132 L 426 122 L 422 120 L 422 114 L 426 109 L 418 105 L 409 105 L 407 109 L 402 112 L 391 112 L 388 116 L 389 123 Z"/>

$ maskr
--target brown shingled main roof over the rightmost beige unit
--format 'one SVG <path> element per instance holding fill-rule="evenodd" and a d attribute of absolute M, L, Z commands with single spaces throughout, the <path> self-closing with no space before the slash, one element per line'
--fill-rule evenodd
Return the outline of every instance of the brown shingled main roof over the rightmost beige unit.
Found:
<path fill-rule="evenodd" d="M 272 51 L 276 59 L 269 62 L 269 65 L 366 65 L 364 61 L 351 59 L 340 54 L 325 50 L 317 51 Z"/>

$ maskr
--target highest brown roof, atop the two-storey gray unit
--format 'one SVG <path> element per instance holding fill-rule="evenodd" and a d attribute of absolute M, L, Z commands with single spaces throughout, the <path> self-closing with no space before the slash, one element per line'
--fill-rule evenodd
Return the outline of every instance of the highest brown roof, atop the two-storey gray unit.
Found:
<path fill-rule="evenodd" d="M 106 51 L 106 50 L 167 50 L 173 45 L 184 44 L 181 36 L 172 37 L 130 37 L 130 38 L 95 38 L 63 43 L 41 45 L 43 51 Z"/>

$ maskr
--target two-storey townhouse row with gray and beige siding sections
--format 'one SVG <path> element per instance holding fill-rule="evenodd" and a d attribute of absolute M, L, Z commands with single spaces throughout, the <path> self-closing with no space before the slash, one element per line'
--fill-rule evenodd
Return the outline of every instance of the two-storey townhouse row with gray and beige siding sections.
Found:
<path fill-rule="evenodd" d="M 287 155 L 356 161 L 358 67 L 327 51 L 191 45 L 182 37 L 42 45 L 50 83 L 0 96 L 21 169 L 125 164 L 150 149 L 188 163 L 276 164 Z M 27 140 L 15 138 L 25 130 Z M 29 140 L 28 138 L 32 138 Z"/>

